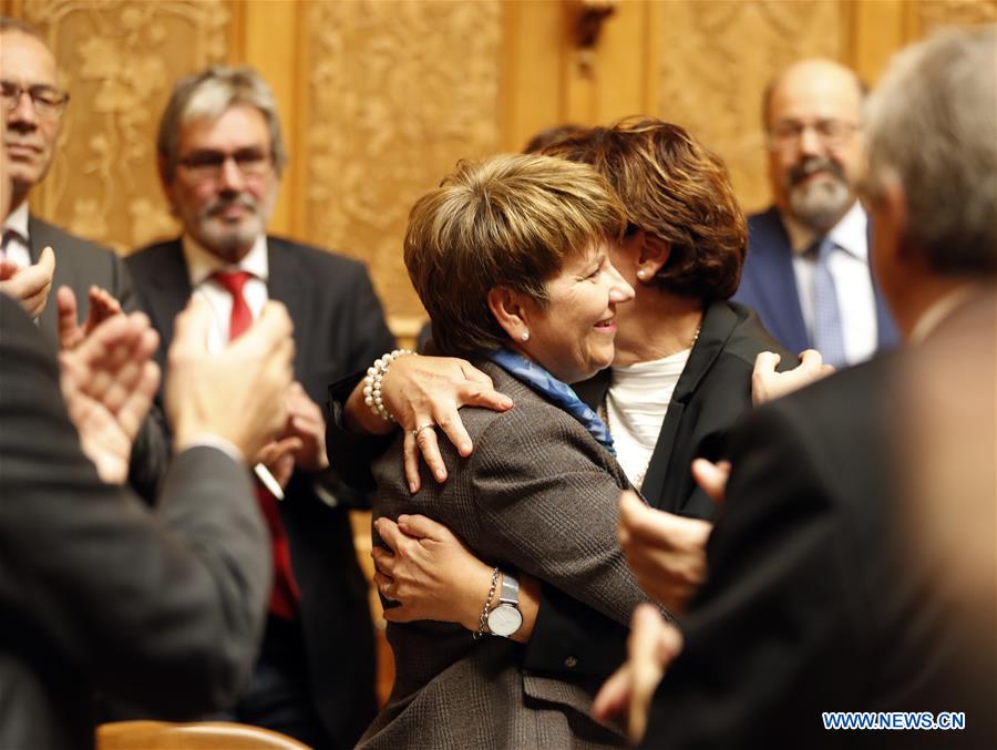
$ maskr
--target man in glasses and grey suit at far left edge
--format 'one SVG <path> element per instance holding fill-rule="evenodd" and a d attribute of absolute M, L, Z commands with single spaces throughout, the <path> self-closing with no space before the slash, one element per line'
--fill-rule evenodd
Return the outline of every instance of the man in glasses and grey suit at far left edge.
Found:
<path fill-rule="evenodd" d="M 44 179 L 52 164 L 69 94 L 58 85 L 52 53 L 38 32 L 23 21 L 0 18 L 0 71 L 7 121 L 3 140 L 9 176 L 13 181 L 10 209 L 4 213 L 3 254 L 18 266 L 9 278 L 0 274 L 0 289 L 10 294 L 8 282 L 18 274 L 39 274 L 44 269 L 50 281 L 48 288 L 58 290 L 66 286 L 72 290 L 73 301 L 62 299 L 60 304 L 78 316 L 78 320 L 90 312 L 88 299 L 94 285 L 106 289 L 125 311 L 134 310 L 132 284 L 115 253 L 43 222 L 28 207 L 31 189 Z M 51 253 L 44 253 L 49 247 L 54 250 L 54 264 Z M 17 296 L 24 301 L 23 295 Z M 54 340 L 59 321 L 56 305 L 42 300 L 30 312 Z"/>

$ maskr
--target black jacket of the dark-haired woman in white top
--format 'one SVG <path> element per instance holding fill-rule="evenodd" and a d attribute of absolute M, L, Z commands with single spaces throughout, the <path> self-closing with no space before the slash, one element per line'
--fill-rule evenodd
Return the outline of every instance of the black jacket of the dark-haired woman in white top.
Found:
<path fill-rule="evenodd" d="M 796 357 L 783 349 L 743 305 L 716 301 L 707 307 L 702 328 L 679 377 L 641 494 L 656 508 L 711 520 L 715 503 L 697 486 L 693 459 L 728 455 L 728 432 L 751 409 L 751 372 L 759 352 L 782 356 L 779 369 Z M 611 370 L 578 383 L 577 393 L 596 409 L 609 390 Z M 543 587 L 526 665 L 545 672 L 607 676 L 626 657 L 628 629 L 562 592 Z"/>

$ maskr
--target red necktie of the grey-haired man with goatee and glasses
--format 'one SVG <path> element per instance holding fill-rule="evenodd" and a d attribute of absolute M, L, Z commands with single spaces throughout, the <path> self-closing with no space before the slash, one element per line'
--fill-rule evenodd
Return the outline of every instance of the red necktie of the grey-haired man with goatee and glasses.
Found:
<path fill-rule="evenodd" d="M 245 270 L 216 271 L 214 278 L 232 295 L 232 317 L 228 319 L 228 340 L 235 341 L 253 325 L 253 314 L 243 296 L 243 287 L 253 275 Z M 284 619 L 295 619 L 301 597 L 295 573 L 291 569 L 287 533 L 280 521 L 277 499 L 259 483 L 256 485 L 259 508 L 270 530 L 270 548 L 274 556 L 274 588 L 270 592 L 270 614 Z"/>

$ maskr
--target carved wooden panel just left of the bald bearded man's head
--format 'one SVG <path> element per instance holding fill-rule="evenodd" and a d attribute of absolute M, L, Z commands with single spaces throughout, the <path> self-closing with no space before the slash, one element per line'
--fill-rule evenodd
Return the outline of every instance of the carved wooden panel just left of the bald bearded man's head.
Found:
<path fill-rule="evenodd" d="M 839 2 L 665 3 L 657 116 L 688 127 L 728 164 L 746 210 L 768 204 L 761 126 L 765 84 L 808 56 L 839 60 Z"/>

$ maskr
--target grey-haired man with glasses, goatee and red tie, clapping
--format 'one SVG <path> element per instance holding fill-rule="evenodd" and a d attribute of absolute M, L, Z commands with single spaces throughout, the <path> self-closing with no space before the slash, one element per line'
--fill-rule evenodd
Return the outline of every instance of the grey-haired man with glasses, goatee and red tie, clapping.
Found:
<path fill-rule="evenodd" d="M 286 155 L 266 82 L 212 68 L 174 89 L 160 124 L 160 174 L 184 235 L 131 256 L 138 297 L 164 345 L 187 300 L 214 312 L 224 346 L 266 299 L 295 322 L 291 418 L 267 462 L 286 499 L 260 499 L 274 537 L 276 583 L 254 680 L 233 716 L 317 748 L 352 747 L 376 710 L 367 584 L 349 523 L 356 501 L 328 471 L 327 386 L 393 347 L 364 267 L 267 236 Z"/>

